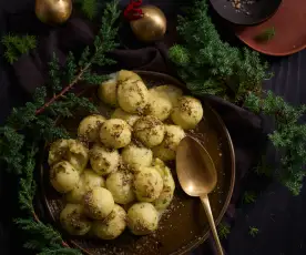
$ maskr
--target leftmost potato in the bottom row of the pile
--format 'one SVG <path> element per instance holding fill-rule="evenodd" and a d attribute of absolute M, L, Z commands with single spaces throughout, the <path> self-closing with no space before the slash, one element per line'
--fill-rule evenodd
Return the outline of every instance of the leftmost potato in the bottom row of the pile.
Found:
<path fill-rule="evenodd" d="M 85 235 L 91 228 L 91 222 L 83 214 L 80 204 L 67 204 L 60 214 L 62 227 L 71 235 Z"/>

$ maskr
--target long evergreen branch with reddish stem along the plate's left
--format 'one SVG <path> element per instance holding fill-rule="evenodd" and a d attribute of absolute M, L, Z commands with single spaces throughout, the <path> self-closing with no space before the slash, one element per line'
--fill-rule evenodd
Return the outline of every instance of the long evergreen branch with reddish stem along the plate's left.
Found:
<path fill-rule="evenodd" d="M 34 212 L 35 153 L 42 142 L 69 137 L 67 130 L 58 124 L 59 118 L 71 118 L 72 111 L 78 109 L 96 112 L 95 105 L 89 99 L 78 96 L 71 89 L 80 81 L 100 84 L 105 79 L 104 75 L 92 74 L 91 68 L 94 64 L 114 63 L 106 54 L 116 47 L 115 22 L 119 14 L 118 2 L 106 4 L 101 31 L 94 41 L 94 51 L 91 52 L 86 47 L 79 60 L 70 52 L 64 67 L 60 65 L 53 54 L 49 63 L 50 79 L 47 86 L 35 90 L 32 102 L 13 109 L 7 124 L 0 128 L 1 163 L 19 175 L 19 204 L 30 215 L 29 218 L 16 220 L 16 223 L 30 237 L 24 247 L 35 249 L 41 255 L 81 255 L 80 251 L 70 248 L 51 225 L 42 223 Z"/>

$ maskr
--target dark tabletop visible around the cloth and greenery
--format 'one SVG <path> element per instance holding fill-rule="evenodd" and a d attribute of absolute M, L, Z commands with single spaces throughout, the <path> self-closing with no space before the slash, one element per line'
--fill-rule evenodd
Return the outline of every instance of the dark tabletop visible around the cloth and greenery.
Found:
<path fill-rule="evenodd" d="M 7 32 L 28 30 L 35 31 L 40 27 L 33 16 L 32 0 L 1 0 L 0 31 L 1 35 Z M 121 1 L 122 6 L 126 4 Z M 164 0 L 144 1 L 160 6 L 166 13 L 170 31 L 166 42 L 174 40 L 172 33 L 175 27 L 175 11 L 177 6 L 185 1 Z M 215 17 L 216 18 L 216 17 Z M 214 19 L 217 23 L 218 20 Z M 24 22 L 29 21 L 29 22 Z M 241 47 L 239 42 L 233 39 L 233 33 L 223 26 L 218 26 L 220 32 L 225 39 Z M 3 49 L 0 45 L 2 55 Z M 265 89 L 272 89 L 276 94 L 283 95 L 288 102 L 298 105 L 306 103 L 306 51 L 302 51 L 285 58 L 267 58 L 274 78 L 265 81 Z M 0 121 L 3 122 L 12 105 L 17 105 L 27 99 L 24 89 L 10 75 L 10 67 L 1 58 L 0 62 Z M 272 159 L 273 160 L 273 159 Z M 0 172 L 1 187 L 10 178 Z M 261 191 L 256 203 L 252 205 L 237 205 L 235 221 L 233 222 L 231 235 L 224 246 L 231 255 L 305 255 L 306 254 L 306 190 L 299 196 L 292 196 L 288 191 L 274 181 L 266 181 L 246 176 L 244 190 L 257 188 Z M 14 197 L 16 187 L 1 190 L 1 224 L 0 224 L 0 254 L 23 254 L 16 249 L 20 246 L 14 228 L 10 223 L 12 215 L 16 215 L 17 207 L 9 206 L 11 197 Z M 248 227 L 255 226 L 259 230 L 256 237 L 248 235 Z M 205 249 L 206 251 L 206 249 Z M 204 254 L 201 252 L 200 254 Z M 206 252 L 205 254 L 211 254 Z"/>

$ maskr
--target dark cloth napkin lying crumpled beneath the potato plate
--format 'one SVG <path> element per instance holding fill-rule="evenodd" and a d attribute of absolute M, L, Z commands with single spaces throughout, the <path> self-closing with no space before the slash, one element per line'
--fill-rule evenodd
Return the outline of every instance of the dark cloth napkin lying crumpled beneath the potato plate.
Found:
<path fill-rule="evenodd" d="M 28 20 L 31 20 L 31 17 Z M 60 62 L 64 64 L 69 51 L 78 54 L 84 45 L 91 44 L 94 38 L 92 24 L 78 17 L 71 18 L 62 27 L 49 28 L 43 24 L 35 24 L 34 30 L 40 35 L 37 50 L 29 55 L 21 57 L 12 67 L 8 67 L 4 73 L 10 84 L 7 90 L 12 90 L 14 94 L 14 101 L 10 102 L 10 104 L 21 104 L 29 99 L 29 95 L 37 86 L 44 83 L 48 74 L 47 63 L 53 52 L 58 55 Z M 111 57 L 118 61 L 118 64 L 100 71 L 111 72 L 119 69 L 129 69 L 176 75 L 175 69 L 167 59 L 167 47 L 164 42 L 133 50 L 121 48 L 112 52 Z M 2 95 L 7 98 L 8 94 L 10 93 L 7 92 Z M 3 96 L 1 98 L 4 100 Z M 256 164 L 265 144 L 266 135 L 263 133 L 262 119 L 259 116 L 216 96 L 206 96 L 204 100 L 208 101 L 221 115 L 234 143 L 236 184 L 225 216 L 232 223 L 235 217 L 235 204 L 241 195 L 242 180 L 247 171 Z M 10 238 L 13 238 L 13 234 Z M 201 247 L 195 253 L 202 254 L 203 252 L 200 251 L 202 251 Z"/>

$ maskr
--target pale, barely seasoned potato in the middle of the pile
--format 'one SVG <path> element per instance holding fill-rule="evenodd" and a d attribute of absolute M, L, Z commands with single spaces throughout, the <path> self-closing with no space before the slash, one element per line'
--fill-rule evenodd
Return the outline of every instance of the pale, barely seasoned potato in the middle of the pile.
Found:
<path fill-rule="evenodd" d="M 134 143 L 130 143 L 122 150 L 123 163 L 131 166 L 131 169 L 137 169 L 140 166 L 150 166 L 153 159 L 153 153 L 150 149 L 139 146 Z"/>

